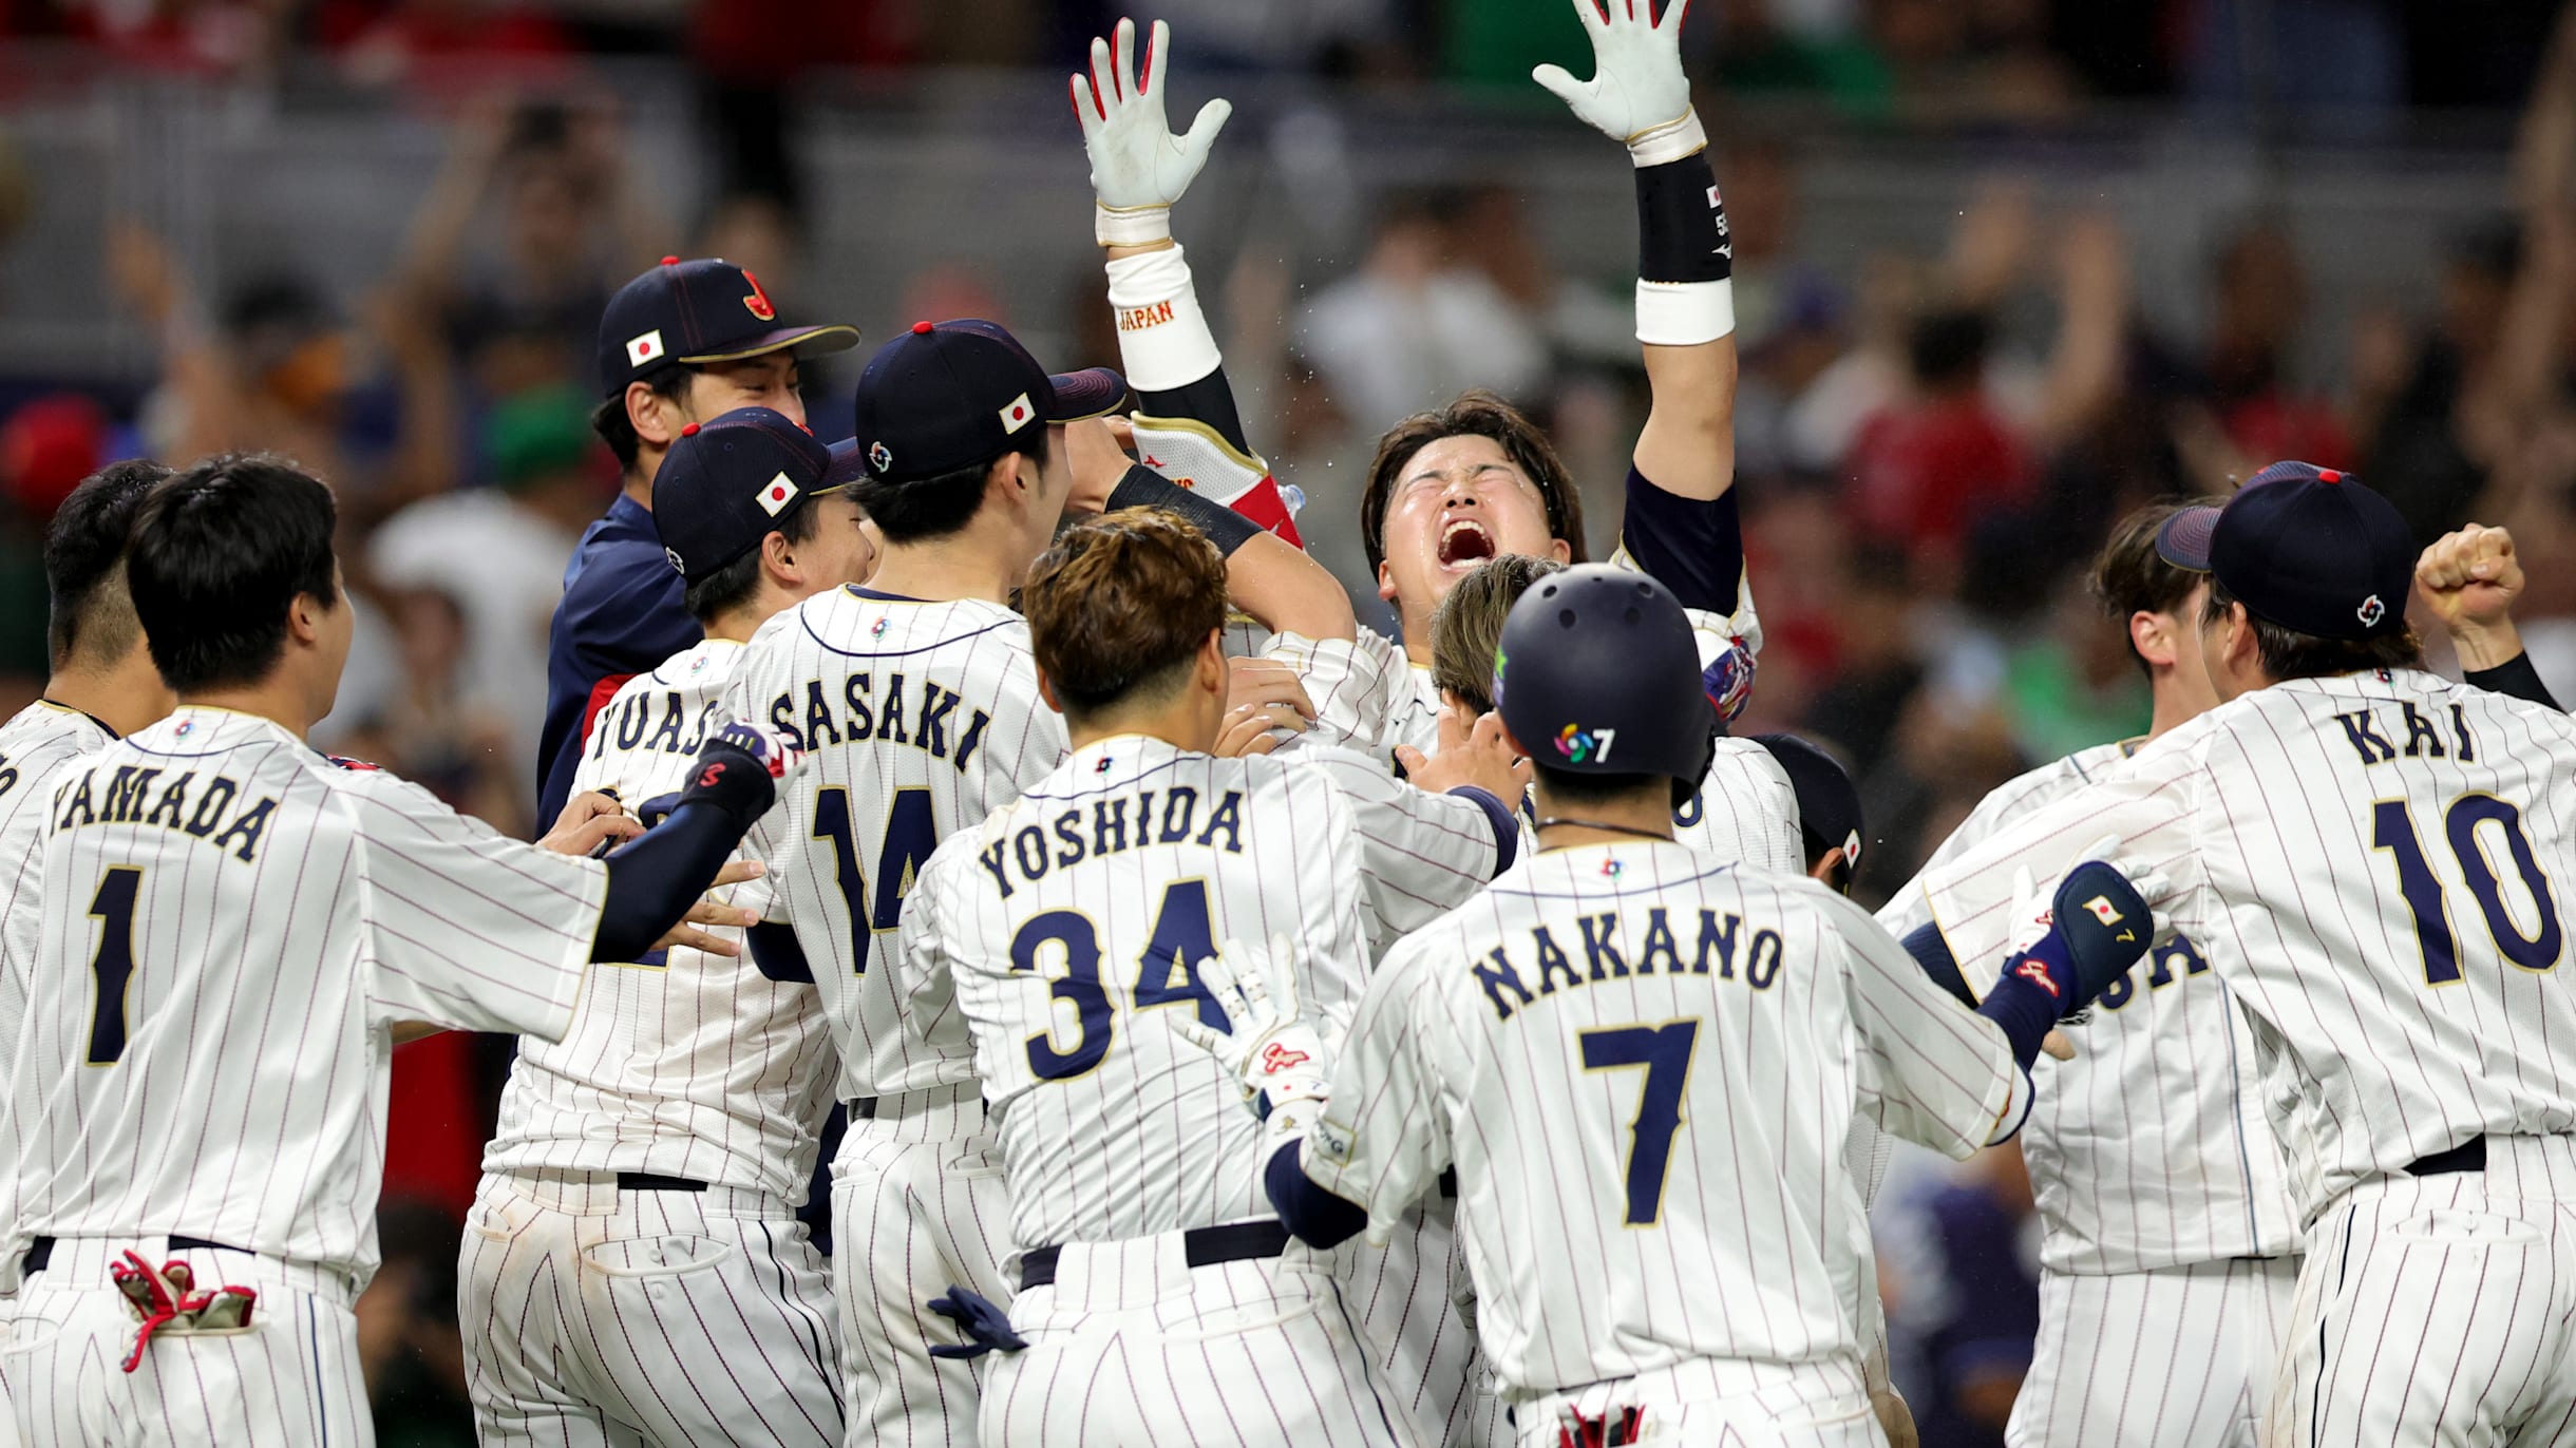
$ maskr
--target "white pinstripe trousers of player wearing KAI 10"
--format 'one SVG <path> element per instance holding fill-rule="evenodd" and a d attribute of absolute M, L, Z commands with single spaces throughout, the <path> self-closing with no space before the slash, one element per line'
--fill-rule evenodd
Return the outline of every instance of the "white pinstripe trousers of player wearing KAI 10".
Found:
<path fill-rule="evenodd" d="M 2316 1224 L 2264 1448 L 2576 1440 L 2576 1139 L 2380 1177 Z"/>

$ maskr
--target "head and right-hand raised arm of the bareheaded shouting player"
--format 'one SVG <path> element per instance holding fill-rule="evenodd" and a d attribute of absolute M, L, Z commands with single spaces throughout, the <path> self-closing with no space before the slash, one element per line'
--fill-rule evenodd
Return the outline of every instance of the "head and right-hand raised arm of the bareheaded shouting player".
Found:
<path fill-rule="evenodd" d="M 1607 10 L 1607 15 L 1602 13 Z M 1708 134 L 1682 72 L 1682 13 L 1651 0 L 1574 0 L 1592 39 L 1592 80 L 1543 64 L 1530 77 L 1636 162 L 1636 338 L 1651 407 L 1628 469 L 1620 551 L 1687 608 L 1705 613 L 1703 667 L 1728 716 L 1752 683 L 1762 626 L 1744 582 L 1734 500 L 1736 314 L 1726 206 Z M 1414 662 L 1401 742 L 1430 750 L 1440 696 L 1430 680 L 1432 611 L 1484 559 L 1582 562 L 1582 505 L 1546 435 L 1507 402 L 1466 394 L 1378 441 L 1360 500 L 1360 536 L 1378 595 L 1396 605 Z"/>

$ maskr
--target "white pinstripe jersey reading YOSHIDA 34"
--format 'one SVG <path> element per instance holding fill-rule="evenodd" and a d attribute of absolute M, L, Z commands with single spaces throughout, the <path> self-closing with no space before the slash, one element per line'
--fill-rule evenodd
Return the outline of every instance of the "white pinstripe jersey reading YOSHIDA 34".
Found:
<path fill-rule="evenodd" d="M 1164 1028 L 1172 1013 L 1224 1025 L 1198 961 L 1288 935 L 1306 1013 L 1334 1036 L 1368 976 L 1370 922 L 1435 920 L 1494 858 L 1484 809 L 1363 755 L 1218 760 L 1136 734 L 1084 745 L 940 845 L 904 912 L 907 974 L 956 979 L 1012 1239 L 1267 1216 L 1242 1090 Z"/>

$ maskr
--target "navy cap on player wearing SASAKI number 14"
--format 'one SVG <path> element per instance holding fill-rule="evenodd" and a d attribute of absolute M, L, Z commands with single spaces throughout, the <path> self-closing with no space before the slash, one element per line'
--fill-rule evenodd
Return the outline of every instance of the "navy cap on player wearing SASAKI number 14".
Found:
<path fill-rule="evenodd" d="M 876 482 L 920 482 L 987 464 L 1028 428 L 1126 407 L 1110 368 L 1048 376 L 999 322 L 914 322 L 858 376 L 858 456 Z"/>

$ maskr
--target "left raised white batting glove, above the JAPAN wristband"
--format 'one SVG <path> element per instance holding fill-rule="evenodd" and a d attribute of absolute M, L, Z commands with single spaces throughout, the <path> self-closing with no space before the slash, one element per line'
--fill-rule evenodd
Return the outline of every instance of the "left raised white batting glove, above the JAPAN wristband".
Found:
<path fill-rule="evenodd" d="M 1208 100 L 1190 131 L 1175 137 L 1162 108 L 1170 72 L 1172 26 L 1154 21 L 1139 70 L 1136 21 L 1118 21 L 1113 39 L 1092 39 L 1090 75 L 1074 77 L 1074 119 L 1082 121 L 1082 149 L 1092 157 L 1092 196 L 1100 204 L 1092 234 L 1103 247 L 1172 240 L 1172 204 L 1198 180 L 1216 131 L 1234 113 L 1231 100 Z"/>

